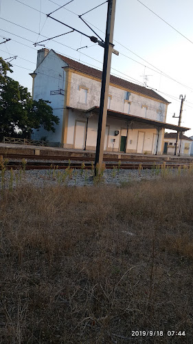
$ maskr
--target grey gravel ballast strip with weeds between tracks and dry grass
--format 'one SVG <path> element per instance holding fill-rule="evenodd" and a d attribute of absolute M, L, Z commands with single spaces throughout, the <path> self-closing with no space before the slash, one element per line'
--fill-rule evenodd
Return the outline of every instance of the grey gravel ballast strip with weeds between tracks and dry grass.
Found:
<path fill-rule="evenodd" d="M 141 180 L 155 180 L 166 175 L 178 175 L 187 171 L 178 169 L 163 170 L 128 170 L 128 169 L 106 169 L 100 180 L 100 184 L 115 184 L 122 186 L 130 182 L 140 182 Z M 66 186 L 92 186 L 98 180 L 93 178 L 93 171 L 84 169 L 73 169 L 70 173 L 67 170 L 29 170 L 13 171 L 12 182 L 10 171 L 5 172 L 5 187 L 14 188 L 15 186 L 31 184 L 32 186 L 44 187 L 49 185 L 66 185 Z M 2 183 L 1 183 L 2 184 Z"/>

